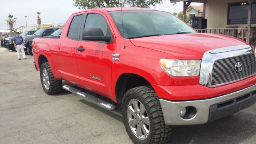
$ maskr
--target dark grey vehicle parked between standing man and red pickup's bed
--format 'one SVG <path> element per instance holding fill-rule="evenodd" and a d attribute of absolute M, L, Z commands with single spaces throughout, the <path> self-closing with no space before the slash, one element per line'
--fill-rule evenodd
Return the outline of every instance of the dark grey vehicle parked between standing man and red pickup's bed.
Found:
<path fill-rule="evenodd" d="M 53 32 L 55 32 L 58 29 L 59 28 L 52 28 L 52 27 L 51 28 L 40 28 L 34 34 L 32 34 L 30 36 L 23 36 L 24 50 L 26 52 L 28 52 L 28 54 L 33 55 L 32 49 L 30 47 L 28 47 L 28 40 L 33 40 L 34 38 L 42 37 L 42 36 L 49 36 L 50 34 L 52 34 Z"/>

